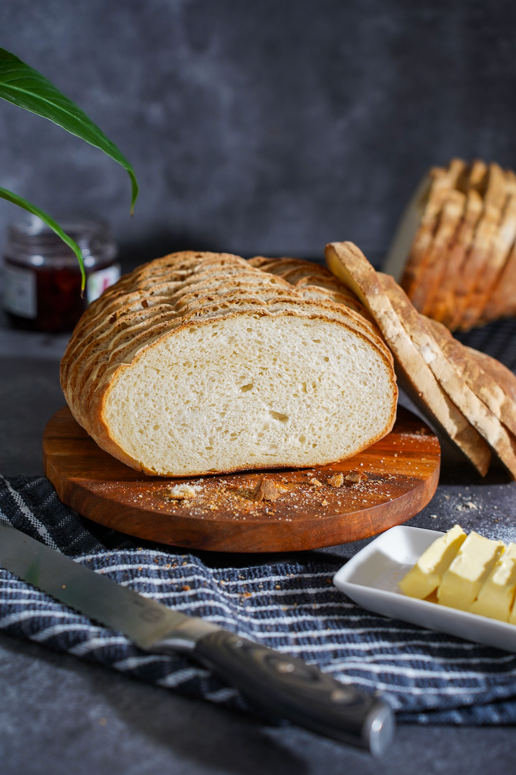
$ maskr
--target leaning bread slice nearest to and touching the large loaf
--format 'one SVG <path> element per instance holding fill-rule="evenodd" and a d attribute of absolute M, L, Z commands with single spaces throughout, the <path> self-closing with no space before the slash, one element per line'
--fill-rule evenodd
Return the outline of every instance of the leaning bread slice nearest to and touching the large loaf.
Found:
<path fill-rule="evenodd" d="M 485 476 L 490 463 L 489 446 L 436 380 L 428 365 L 427 353 L 423 356 L 412 342 L 369 261 L 349 242 L 327 245 L 326 261 L 333 274 L 367 305 L 377 321 L 394 355 L 400 385 L 409 398 Z"/>

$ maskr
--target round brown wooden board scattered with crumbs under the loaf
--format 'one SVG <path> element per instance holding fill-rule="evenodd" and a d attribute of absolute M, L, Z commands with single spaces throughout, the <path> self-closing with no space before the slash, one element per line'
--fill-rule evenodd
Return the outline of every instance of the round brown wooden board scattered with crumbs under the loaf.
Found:
<path fill-rule="evenodd" d="M 219 552 L 318 549 L 375 536 L 421 511 L 439 480 L 439 441 L 418 417 L 398 408 L 384 439 L 342 463 L 311 469 L 244 471 L 175 479 L 150 477 L 104 452 L 60 409 L 43 434 L 46 476 L 64 503 L 94 522 L 130 536 Z M 359 484 L 331 487 L 332 474 L 366 474 Z M 267 473 L 277 501 L 255 501 Z M 310 484 L 317 479 L 322 487 Z M 200 485 L 177 501 L 170 487 Z"/>

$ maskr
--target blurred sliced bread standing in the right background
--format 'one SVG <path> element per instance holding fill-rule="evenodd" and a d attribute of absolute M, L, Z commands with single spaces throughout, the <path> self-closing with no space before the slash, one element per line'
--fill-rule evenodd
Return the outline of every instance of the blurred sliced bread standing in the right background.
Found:
<path fill-rule="evenodd" d="M 516 175 L 453 159 L 435 167 L 385 264 L 412 304 L 451 331 L 516 314 Z"/>

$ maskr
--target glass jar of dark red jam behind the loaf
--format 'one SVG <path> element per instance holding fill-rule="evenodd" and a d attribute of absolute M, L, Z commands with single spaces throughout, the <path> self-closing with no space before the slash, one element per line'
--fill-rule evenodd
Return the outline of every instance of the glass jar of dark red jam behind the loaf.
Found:
<path fill-rule="evenodd" d="M 36 215 L 8 229 L 3 256 L 3 308 L 11 324 L 30 331 L 71 331 L 84 309 L 120 277 L 117 246 L 104 222 L 56 219 L 81 248 L 86 291 L 75 253 Z"/>

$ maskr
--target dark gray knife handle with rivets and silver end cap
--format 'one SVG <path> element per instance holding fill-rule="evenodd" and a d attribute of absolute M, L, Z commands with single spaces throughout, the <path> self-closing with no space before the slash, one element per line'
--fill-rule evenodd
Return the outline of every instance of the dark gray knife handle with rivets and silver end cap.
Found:
<path fill-rule="evenodd" d="M 381 756 L 394 735 L 389 706 L 317 667 L 225 630 L 200 639 L 193 656 L 274 715 Z"/>

